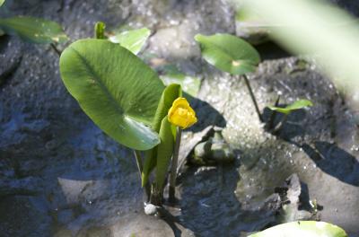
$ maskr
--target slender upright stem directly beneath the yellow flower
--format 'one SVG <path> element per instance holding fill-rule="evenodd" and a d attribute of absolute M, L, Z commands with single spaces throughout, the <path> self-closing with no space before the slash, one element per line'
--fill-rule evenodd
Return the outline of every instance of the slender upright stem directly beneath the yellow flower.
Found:
<path fill-rule="evenodd" d="M 182 129 L 177 127 L 176 144 L 174 145 L 173 158 L 171 163 L 171 176 L 170 176 L 170 190 L 169 190 L 169 201 L 175 203 L 176 193 L 176 178 L 177 178 L 177 163 L 179 162 L 180 152 L 180 137 L 182 135 Z"/>

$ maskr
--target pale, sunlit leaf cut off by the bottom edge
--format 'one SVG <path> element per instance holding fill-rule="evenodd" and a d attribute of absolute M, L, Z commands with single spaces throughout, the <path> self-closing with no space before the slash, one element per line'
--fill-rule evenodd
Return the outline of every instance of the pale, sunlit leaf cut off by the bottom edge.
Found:
<path fill-rule="evenodd" d="M 263 232 L 251 234 L 249 237 L 347 237 L 346 232 L 334 224 L 315 221 L 301 221 L 278 224 Z"/>

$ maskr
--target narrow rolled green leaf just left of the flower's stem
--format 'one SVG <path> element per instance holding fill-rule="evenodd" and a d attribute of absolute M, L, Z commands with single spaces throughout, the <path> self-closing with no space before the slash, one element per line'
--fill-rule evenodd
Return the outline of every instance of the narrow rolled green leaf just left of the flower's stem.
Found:
<path fill-rule="evenodd" d="M 171 131 L 171 123 L 167 116 L 162 119 L 160 129 L 161 143 L 157 146 L 156 185 L 162 190 L 164 180 L 173 154 L 174 139 Z"/>

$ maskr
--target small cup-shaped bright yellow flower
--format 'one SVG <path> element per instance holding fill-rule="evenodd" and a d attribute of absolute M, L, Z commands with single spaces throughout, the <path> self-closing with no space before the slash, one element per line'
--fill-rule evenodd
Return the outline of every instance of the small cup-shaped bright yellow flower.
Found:
<path fill-rule="evenodd" d="M 168 112 L 168 119 L 171 124 L 179 126 L 182 129 L 191 127 L 197 122 L 196 112 L 190 106 L 186 98 L 177 98 L 172 103 Z"/>

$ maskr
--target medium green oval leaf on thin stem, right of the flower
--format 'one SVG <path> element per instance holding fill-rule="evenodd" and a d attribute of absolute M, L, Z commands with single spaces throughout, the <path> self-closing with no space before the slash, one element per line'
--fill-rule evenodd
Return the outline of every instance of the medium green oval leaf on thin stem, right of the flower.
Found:
<path fill-rule="evenodd" d="M 195 40 L 200 44 L 202 56 L 209 64 L 232 75 L 254 72 L 260 61 L 255 48 L 230 34 L 197 34 Z"/>

